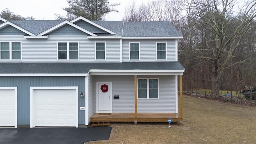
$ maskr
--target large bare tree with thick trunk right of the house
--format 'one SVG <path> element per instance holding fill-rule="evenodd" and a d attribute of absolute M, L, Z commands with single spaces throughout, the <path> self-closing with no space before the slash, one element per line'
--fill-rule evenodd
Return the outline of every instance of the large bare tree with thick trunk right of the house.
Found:
<path fill-rule="evenodd" d="M 192 9 L 196 10 L 194 16 L 198 17 L 198 23 L 204 28 L 205 45 L 194 49 L 183 49 L 190 52 L 194 57 L 199 59 L 210 60 L 212 62 L 212 93 L 214 98 L 219 96 L 220 80 L 226 68 L 236 64 L 246 62 L 239 60 L 235 56 L 241 40 L 249 30 L 248 24 L 256 17 L 256 2 L 246 2 L 242 8 L 235 10 L 237 0 L 192 0 Z M 234 15 L 234 12 L 237 14 Z M 234 25 L 234 20 L 236 24 Z M 238 23 L 239 22 L 239 23 Z M 230 24 L 232 27 L 230 27 Z M 228 65 L 230 60 L 238 61 Z"/>

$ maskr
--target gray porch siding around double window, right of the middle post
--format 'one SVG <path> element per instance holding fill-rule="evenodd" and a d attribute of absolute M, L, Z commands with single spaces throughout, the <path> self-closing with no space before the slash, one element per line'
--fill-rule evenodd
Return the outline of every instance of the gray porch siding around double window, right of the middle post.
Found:
<path fill-rule="evenodd" d="M 158 99 L 138 99 L 139 112 L 175 113 L 175 75 L 170 76 L 138 76 L 138 78 L 159 78 Z"/>

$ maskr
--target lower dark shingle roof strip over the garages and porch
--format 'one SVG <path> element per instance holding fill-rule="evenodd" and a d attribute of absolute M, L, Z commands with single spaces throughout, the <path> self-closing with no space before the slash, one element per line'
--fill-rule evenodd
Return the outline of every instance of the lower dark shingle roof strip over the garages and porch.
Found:
<path fill-rule="evenodd" d="M 85 74 L 97 70 L 184 70 L 180 62 L 0 63 L 0 74 Z"/>

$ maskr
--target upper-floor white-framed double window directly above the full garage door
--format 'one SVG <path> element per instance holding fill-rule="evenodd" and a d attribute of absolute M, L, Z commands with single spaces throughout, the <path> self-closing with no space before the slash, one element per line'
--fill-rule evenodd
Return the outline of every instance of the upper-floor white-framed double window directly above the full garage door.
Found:
<path fill-rule="evenodd" d="M 58 60 L 78 60 L 78 42 L 58 42 Z"/>

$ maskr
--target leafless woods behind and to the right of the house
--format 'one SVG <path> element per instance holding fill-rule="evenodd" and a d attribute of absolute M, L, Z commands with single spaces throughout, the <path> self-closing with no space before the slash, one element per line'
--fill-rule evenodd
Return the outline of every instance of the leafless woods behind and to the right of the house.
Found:
<path fill-rule="evenodd" d="M 256 1 L 156 0 L 126 9 L 124 21 L 170 21 L 183 35 L 184 90 L 239 91 L 256 84 Z"/>

